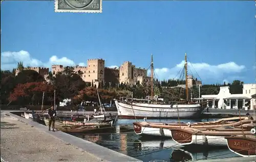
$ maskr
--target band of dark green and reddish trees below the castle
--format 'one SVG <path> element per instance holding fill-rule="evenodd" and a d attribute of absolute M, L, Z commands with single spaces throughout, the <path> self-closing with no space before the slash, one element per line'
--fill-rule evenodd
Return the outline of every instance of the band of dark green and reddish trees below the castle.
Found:
<path fill-rule="evenodd" d="M 67 66 L 55 76 L 49 73 L 48 80 L 34 70 L 25 70 L 23 63 L 17 64 L 19 73 L 15 76 L 15 70 L 1 70 L 1 104 L 18 105 L 40 105 L 44 93 L 44 104 L 54 103 L 54 90 L 56 103 L 63 99 L 71 98 L 73 104 L 81 101 L 98 101 L 97 90 L 94 84 L 82 80 L 81 72 L 74 72 L 74 68 Z M 177 87 L 178 84 L 185 84 L 185 80 L 168 79 L 158 82 L 156 79 L 154 95 L 169 100 L 185 99 L 185 89 Z M 201 95 L 218 94 L 220 87 L 229 86 L 231 94 L 243 92 L 243 82 L 234 80 L 231 84 L 212 84 L 201 87 Z M 126 84 L 99 83 L 98 92 L 102 102 L 110 102 L 114 98 L 134 97 L 145 98 L 151 95 L 151 85 L 137 83 L 134 86 Z M 189 90 L 189 97 L 199 97 L 199 88 L 194 86 Z"/>

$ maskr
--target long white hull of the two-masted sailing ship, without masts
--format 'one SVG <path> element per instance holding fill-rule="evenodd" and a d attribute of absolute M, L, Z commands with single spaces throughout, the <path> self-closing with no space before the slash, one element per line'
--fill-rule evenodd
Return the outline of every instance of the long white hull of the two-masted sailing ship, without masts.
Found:
<path fill-rule="evenodd" d="M 143 119 L 145 117 L 147 119 L 198 118 L 202 114 L 200 104 L 128 104 L 117 100 L 115 100 L 115 104 L 118 117 L 124 119 Z"/>

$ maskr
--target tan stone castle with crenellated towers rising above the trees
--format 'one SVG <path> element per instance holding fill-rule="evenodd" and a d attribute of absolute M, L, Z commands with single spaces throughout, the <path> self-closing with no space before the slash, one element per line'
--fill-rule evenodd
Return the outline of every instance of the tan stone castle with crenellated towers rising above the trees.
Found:
<path fill-rule="evenodd" d="M 58 72 L 64 70 L 63 65 L 52 65 L 52 74 L 56 75 Z M 28 67 L 25 70 L 34 70 L 47 80 L 49 75 L 49 68 Z M 74 66 L 75 72 L 80 72 L 81 78 L 84 82 L 92 83 L 98 87 L 99 83 L 114 83 L 114 84 L 129 84 L 136 83 L 150 83 L 151 77 L 147 76 L 147 70 L 136 68 L 131 62 L 125 61 L 119 68 L 105 67 L 103 59 L 89 59 L 87 66 Z M 16 69 L 16 75 L 19 71 Z"/>

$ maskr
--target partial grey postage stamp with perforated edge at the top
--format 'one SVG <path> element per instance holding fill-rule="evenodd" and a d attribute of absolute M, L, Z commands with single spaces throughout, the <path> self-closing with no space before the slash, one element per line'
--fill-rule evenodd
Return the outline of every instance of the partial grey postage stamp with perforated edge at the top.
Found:
<path fill-rule="evenodd" d="M 55 0 L 55 12 L 101 13 L 102 0 Z"/>

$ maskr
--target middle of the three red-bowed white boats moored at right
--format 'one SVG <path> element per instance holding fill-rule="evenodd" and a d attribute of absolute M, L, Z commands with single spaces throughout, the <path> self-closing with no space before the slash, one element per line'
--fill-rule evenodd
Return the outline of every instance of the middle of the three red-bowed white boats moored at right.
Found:
<path fill-rule="evenodd" d="M 238 127 L 221 126 L 216 128 L 172 128 L 172 138 L 180 145 L 227 146 L 225 137 L 251 135 L 253 124 L 243 124 Z"/>

